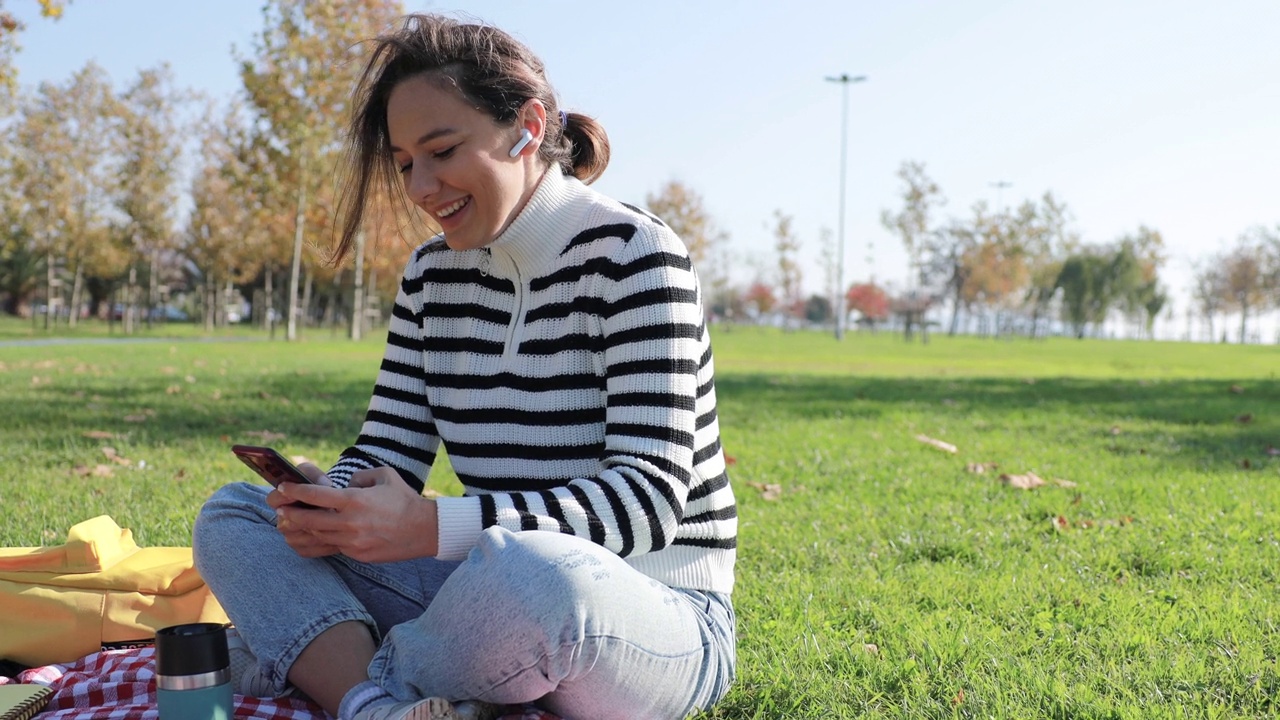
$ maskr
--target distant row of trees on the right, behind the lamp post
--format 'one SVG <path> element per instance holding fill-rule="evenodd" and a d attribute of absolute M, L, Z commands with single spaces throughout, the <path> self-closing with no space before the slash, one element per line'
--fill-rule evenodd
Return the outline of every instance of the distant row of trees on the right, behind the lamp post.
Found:
<path fill-rule="evenodd" d="M 823 228 L 818 238 L 823 292 L 804 296 L 796 259 L 801 242 L 792 218 L 781 210 L 767 224 L 773 237 L 772 265 L 756 260 L 754 279 L 735 284 L 728 279 L 726 234 L 714 228 L 695 191 L 671 182 L 648 202 L 686 238 L 718 319 L 831 323 L 841 293 L 846 311 L 860 325 L 896 320 L 908 338 L 933 324 L 948 334 L 966 329 L 992 336 L 1097 337 L 1116 319 L 1138 337 L 1155 336 L 1155 323 L 1170 300 L 1161 275 L 1167 251 L 1158 229 L 1138 225 L 1111 241 L 1087 242 L 1068 205 L 1052 192 L 1014 208 L 978 201 L 966 215 L 943 217 L 946 197 L 923 163 L 902 163 L 897 181 L 900 205 L 881 214 L 882 225 L 908 256 L 906 283 L 897 288 L 874 281 L 836 288 L 831 232 Z M 1244 231 L 1234 247 L 1203 259 L 1193 282 L 1194 287 L 1183 290 L 1189 291 L 1210 336 L 1219 337 L 1216 319 L 1235 314 L 1236 337 L 1245 342 L 1251 320 L 1280 309 L 1280 225 Z M 1221 337 L 1229 337 L 1225 328 Z"/>

